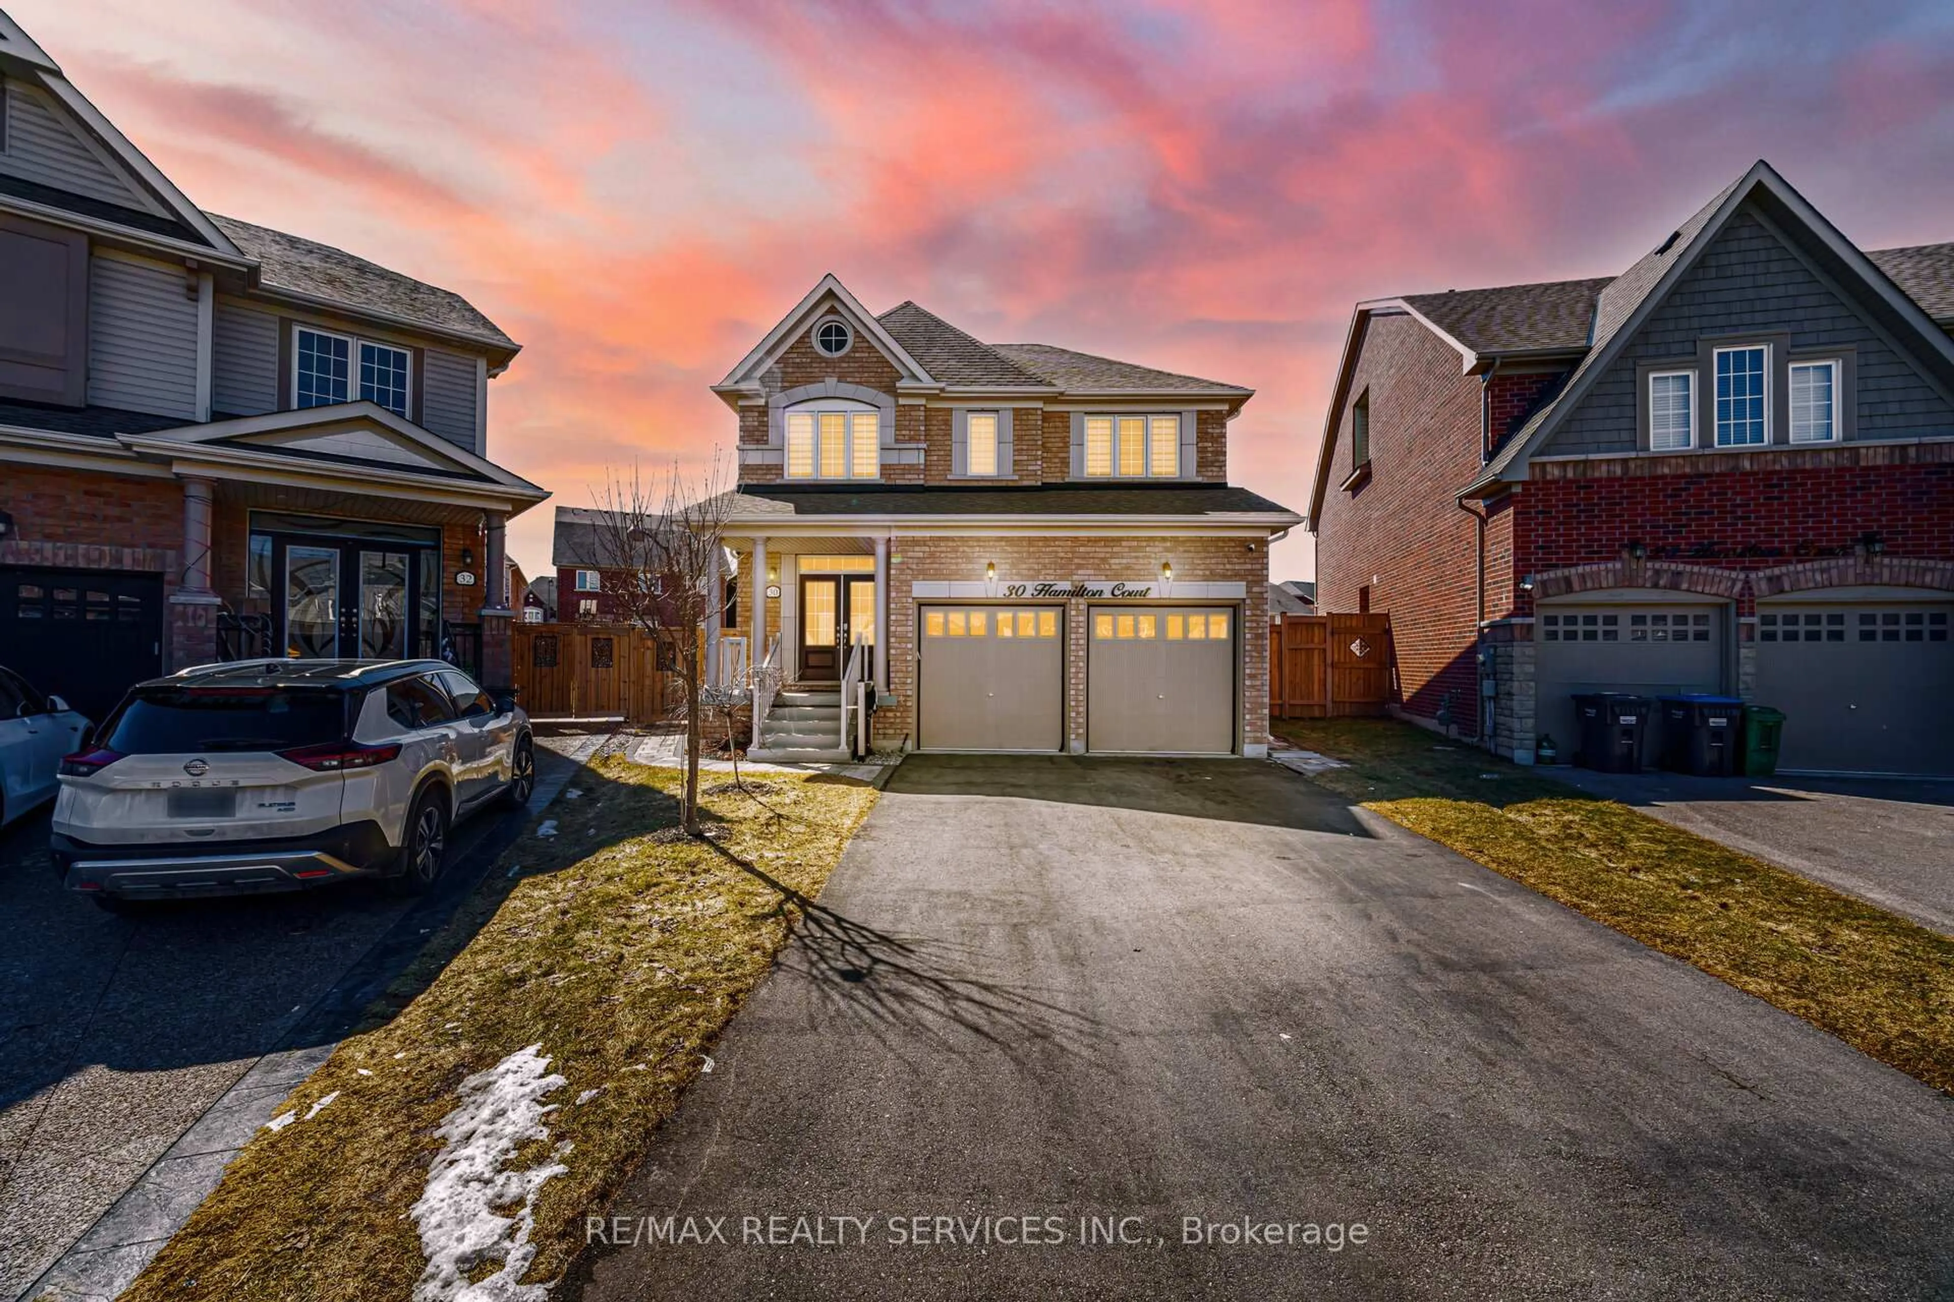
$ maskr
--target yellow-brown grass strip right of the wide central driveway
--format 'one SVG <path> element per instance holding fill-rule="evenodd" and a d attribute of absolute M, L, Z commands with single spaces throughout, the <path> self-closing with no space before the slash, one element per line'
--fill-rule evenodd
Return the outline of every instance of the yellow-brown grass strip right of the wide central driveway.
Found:
<path fill-rule="evenodd" d="M 1411 724 L 1284 722 L 1317 783 L 1954 1093 L 1954 939 Z"/>

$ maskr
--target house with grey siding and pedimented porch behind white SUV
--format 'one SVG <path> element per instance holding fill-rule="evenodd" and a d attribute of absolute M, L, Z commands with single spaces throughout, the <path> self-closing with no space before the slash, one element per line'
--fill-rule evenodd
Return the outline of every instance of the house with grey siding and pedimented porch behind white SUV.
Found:
<path fill-rule="evenodd" d="M 0 14 L 0 662 L 100 714 L 238 656 L 506 679 L 516 344 L 170 183 Z"/>

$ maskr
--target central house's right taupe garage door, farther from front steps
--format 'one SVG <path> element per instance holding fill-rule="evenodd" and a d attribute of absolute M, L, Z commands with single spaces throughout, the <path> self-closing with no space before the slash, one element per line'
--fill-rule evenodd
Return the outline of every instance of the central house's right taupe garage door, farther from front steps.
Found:
<path fill-rule="evenodd" d="M 1235 611 L 1092 607 L 1086 748 L 1235 752 Z"/>

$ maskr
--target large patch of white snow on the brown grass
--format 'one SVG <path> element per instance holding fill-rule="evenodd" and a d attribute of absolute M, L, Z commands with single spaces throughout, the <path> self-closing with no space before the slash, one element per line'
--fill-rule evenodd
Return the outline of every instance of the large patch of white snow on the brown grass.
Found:
<path fill-rule="evenodd" d="M 520 1282 L 535 1259 L 535 1195 L 569 1171 L 561 1161 L 510 1171 L 504 1163 L 524 1144 L 549 1140 L 543 1119 L 557 1111 L 543 1097 L 569 1081 L 549 1072 L 541 1044 L 520 1048 L 487 1072 L 461 1081 L 461 1105 L 442 1119 L 444 1140 L 428 1169 L 428 1189 L 408 1208 L 420 1226 L 428 1267 L 414 1302 L 541 1302 L 547 1284 Z M 569 1144 L 559 1144 L 563 1158 Z M 516 1208 L 502 1216 L 494 1208 Z M 494 1275 L 469 1282 L 477 1267 L 500 1261 Z"/>

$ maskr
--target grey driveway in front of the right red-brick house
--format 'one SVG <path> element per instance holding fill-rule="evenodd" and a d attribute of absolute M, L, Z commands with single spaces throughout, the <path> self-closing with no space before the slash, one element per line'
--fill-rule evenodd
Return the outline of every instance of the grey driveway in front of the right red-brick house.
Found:
<path fill-rule="evenodd" d="M 1954 935 L 1954 781 L 1591 769 L 1555 777 Z"/>

